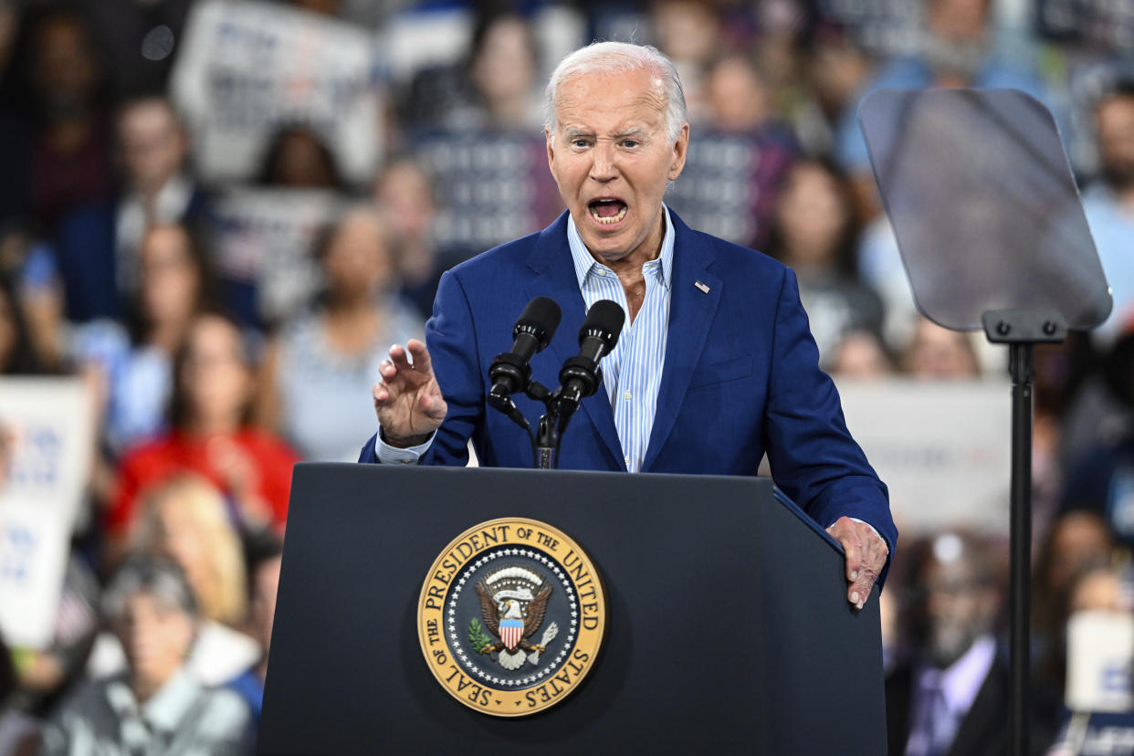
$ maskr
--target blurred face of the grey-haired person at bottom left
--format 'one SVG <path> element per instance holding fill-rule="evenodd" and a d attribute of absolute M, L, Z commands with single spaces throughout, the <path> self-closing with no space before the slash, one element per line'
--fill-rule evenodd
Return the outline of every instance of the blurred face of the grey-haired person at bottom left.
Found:
<path fill-rule="evenodd" d="M 135 689 L 153 693 L 185 662 L 193 645 L 193 619 L 179 606 L 167 606 L 139 592 L 126 601 L 113 631 L 126 652 Z"/>

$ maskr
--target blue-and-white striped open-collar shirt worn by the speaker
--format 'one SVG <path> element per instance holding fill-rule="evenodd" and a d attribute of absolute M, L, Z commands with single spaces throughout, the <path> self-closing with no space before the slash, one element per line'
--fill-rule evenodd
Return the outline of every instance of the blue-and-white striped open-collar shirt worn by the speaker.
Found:
<path fill-rule="evenodd" d="M 674 223 L 665 205 L 662 218 L 666 220 L 666 235 L 661 241 L 661 254 L 657 260 L 642 265 L 645 298 L 633 323 L 626 291 L 618 275 L 587 252 L 575 227 L 575 219 L 569 215 L 567 219 L 567 244 L 586 308 L 590 309 L 600 299 L 610 299 L 618 303 L 626 313 L 618 343 L 599 365 L 602 367 L 603 388 L 615 413 L 615 428 L 623 447 L 623 461 L 631 473 L 641 472 L 645 459 L 666 363 L 669 294 L 674 273 Z M 396 449 L 382 441 L 379 434 L 374 452 L 379 461 L 384 464 L 413 464 L 421 459 L 432 442 L 431 436 L 421 445 Z"/>

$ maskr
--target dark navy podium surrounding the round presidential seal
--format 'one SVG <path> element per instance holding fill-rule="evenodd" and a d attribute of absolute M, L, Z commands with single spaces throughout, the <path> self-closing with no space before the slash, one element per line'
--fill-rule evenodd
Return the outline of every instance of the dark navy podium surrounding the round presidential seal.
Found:
<path fill-rule="evenodd" d="M 587 678 L 521 719 L 451 698 L 416 628 L 434 559 L 499 517 L 568 534 L 608 601 Z M 878 602 L 768 479 L 295 469 L 261 754 L 881 755 L 885 717 Z"/>

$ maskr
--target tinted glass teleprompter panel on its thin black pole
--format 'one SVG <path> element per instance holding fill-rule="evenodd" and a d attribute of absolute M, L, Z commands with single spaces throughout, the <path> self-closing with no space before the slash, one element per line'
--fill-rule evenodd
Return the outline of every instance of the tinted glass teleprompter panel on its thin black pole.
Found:
<path fill-rule="evenodd" d="M 1029 753 L 1032 383 L 1036 343 L 1102 323 L 1111 299 L 1050 112 L 1014 90 L 888 90 L 858 109 L 917 308 L 1008 346 L 1010 744 Z"/>

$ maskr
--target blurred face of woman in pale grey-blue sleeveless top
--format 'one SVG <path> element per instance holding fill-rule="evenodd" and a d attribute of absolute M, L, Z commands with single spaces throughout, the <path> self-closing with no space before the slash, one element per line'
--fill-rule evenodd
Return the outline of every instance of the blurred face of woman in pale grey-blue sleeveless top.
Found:
<path fill-rule="evenodd" d="M 393 269 L 382 221 L 370 211 L 348 213 L 327 245 L 322 264 L 333 299 L 353 301 L 386 289 Z"/>

